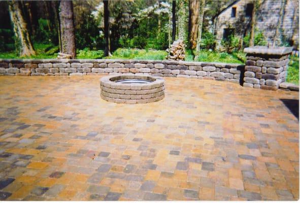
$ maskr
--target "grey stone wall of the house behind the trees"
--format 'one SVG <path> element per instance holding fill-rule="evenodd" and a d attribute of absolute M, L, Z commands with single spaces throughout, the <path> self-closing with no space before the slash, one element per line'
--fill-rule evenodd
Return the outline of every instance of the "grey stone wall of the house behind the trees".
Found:
<path fill-rule="evenodd" d="M 296 0 L 286 0 L 285 5 L 281 1 L 264 0 L 256 12 L 256 28 L 262 30 L 266 40 L 272 44 L 276 25 L 280 18 L 280 8 L 284 7 L 282 24 L 280 26 L 280 37 L 291 41 L 294 49 L 298 49 L 299 44 L 299 2 Z M 215 20 L 214 32 L 217 39 L 216 49 L 220 50 L 224 28 L 234 28 L 235 36 L 243 38 L 250 30 L 251 17 L 246 17 L 246 5 L 252 4 L 252 0 L 240 0 L 223 10 Z M 231 17 L 232 8 L 237 8 L 236 17 Z"/>

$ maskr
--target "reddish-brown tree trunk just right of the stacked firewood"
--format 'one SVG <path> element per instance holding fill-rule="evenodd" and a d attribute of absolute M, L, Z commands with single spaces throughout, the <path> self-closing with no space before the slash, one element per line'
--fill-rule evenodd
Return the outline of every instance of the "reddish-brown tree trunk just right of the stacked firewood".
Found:
<path fill-rule="evenodd" d="M 199 1 L 189 1 L 189 43 L 190 48 L 195 50 L 197 45 L 198 27 L 199 27 Z"/>

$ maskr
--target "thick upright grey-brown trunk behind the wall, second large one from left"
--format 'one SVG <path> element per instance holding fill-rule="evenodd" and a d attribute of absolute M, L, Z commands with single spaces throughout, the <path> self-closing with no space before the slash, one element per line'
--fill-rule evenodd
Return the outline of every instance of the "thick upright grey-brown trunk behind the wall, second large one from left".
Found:
<path fill-rule="evenodd" d="M 61 1 L 59 12 L 61 51 L 70 54 L 71 58 L 76 57 L 74 14 L 72 1 Z"/>

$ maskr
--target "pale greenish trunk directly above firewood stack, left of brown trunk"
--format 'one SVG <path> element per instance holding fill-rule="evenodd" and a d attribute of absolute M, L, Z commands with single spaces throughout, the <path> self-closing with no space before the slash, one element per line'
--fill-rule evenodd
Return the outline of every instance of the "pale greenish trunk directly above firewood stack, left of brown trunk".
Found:
<path fill-rule="evenodd" d="M 185 44 L 187 43 L 187 22 L 188 22 L 188 10 L 187 1 L 179 0 L 179 11 L 178 11 L 178 39 L 182 40 Z"/>

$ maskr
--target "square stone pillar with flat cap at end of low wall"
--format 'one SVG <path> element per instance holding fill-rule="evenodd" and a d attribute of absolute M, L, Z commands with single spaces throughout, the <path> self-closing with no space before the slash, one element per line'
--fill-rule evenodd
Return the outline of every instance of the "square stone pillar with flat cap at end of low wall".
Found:
<path fill-rule="evenodd" d="M 277 90 L 285 82 L 289 55 L 292 47 L 255 46 L 244 49 L 245 65 L 244 87 Z"/>

